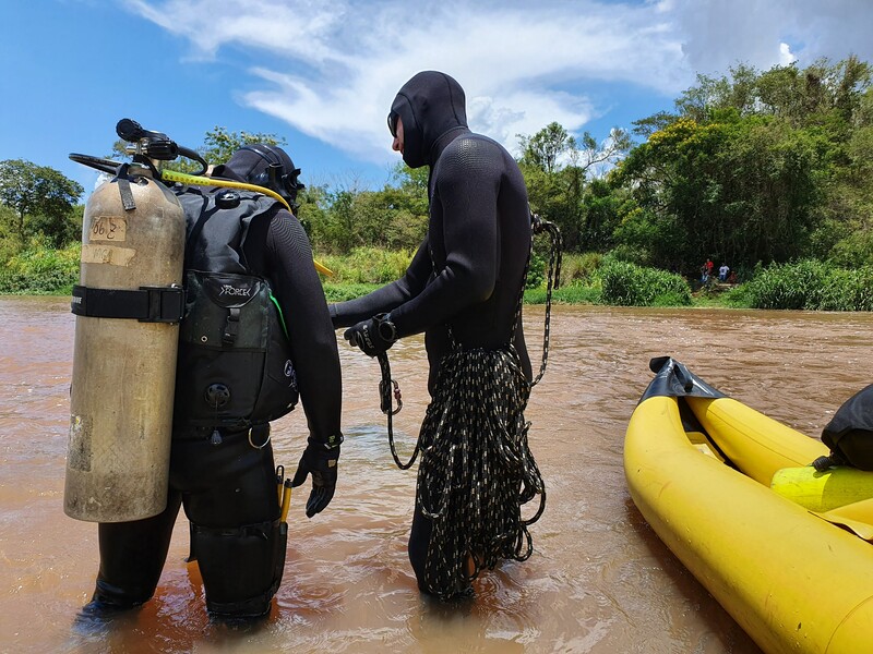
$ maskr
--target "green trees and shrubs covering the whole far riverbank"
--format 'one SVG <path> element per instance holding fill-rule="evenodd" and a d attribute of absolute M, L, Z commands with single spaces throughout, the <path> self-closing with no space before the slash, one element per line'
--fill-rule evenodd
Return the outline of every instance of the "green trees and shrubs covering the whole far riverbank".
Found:
<path fill-rule="evenodd" d="M 530 206 L 564 240 L 554 301 L 873 311 L 872 73 L 854 57 L 740 64 L 698 76 L 673 112 L 601 142 L 555 122 L 519 134 Z M 218 164 L 254 142 L 284 140 L 216 126 L 199 152 Z M 427 230 L 427 168 L 399 164 L 381 190 L 352 180 L 300 194 L 316 256 L 336 272 L 328 300 L 404 274 Z M 74 281 L 81 194 L 58 171 L 0 161 L 0 292 Z M 727 263 L 739 283 L 701 284 L 707 258 L 716 269 Z M 545 301 L 547 263 L 538 241 L 528 302 Z"/>

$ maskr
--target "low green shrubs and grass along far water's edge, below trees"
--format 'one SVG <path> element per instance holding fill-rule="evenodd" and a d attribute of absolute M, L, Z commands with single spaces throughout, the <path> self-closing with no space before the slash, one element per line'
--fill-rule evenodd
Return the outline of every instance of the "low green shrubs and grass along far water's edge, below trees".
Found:
<path fill-rule="evenodd" d="M 34 241 L 0 268 L 0 293 L 69 294 L 79 280 L 81 245 L 62 250 Z M 349 255 L 319 256 L 334 271 L 325 278 L 328 302 L 363 295 L 398 279 L 412 257 L 409 251 L 361 247 Z M 535 255 L 525 302 L 546 302 L 545 257 Z M 610 255 L 564 255 L 561 286 L 552 300 L 558 304 L 620 306 L 730 306 L 811 311 L 873 311 L 873 266 L 839 268 L 815 259 L 757 266 L 751 279 L 727 292 L 705 287 L 692 293 L 680 275 L 637 266 Z"/>

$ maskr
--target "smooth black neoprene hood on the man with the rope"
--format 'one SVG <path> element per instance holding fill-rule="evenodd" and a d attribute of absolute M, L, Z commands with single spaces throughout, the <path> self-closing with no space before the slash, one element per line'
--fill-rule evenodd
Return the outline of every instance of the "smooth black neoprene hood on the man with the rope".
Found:
<path fill-rule="evenodd" d="M 400 87 L 391 111 L 403 120 L 403 160 L 409 168 L 432 165 L 436 141 L 467 128 L 465 104 L 461 84 L 445 73 L 423 71 Z"/>

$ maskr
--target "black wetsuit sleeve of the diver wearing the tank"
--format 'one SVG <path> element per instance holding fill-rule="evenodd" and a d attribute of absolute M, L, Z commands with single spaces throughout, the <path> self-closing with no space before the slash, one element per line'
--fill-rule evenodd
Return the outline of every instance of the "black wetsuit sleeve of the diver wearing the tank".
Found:
<path fill-rule="evenodd" d="M 265 245 L 267 276 L 288 328 L 309 431 L 324 440 L 340 432 L 343 386 L 336 334 L 309 239 L 297 218 L 282 210 L 270 222 Z"/>

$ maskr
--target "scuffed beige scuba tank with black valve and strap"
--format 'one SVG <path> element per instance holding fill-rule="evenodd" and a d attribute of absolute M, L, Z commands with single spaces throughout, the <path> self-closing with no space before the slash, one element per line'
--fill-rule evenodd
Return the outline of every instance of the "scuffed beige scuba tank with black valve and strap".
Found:
<path fill-rule="evenodd" d="M 186 219 L 153 159 L 179 154 L 165 134 L 122 120 L 131 164 L 70 155 L 112 174 L 85 207 L 75 318 L 64 512 L 122 522 L 167 505 Z"/>

